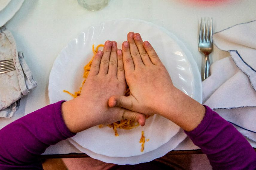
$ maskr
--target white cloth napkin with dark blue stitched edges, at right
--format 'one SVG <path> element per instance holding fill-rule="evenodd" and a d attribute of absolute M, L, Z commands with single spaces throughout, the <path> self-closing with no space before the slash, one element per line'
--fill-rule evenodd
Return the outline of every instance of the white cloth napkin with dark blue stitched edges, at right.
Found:
<path fill-rule="evenodd" d="M 231 57 L 211 65 L 211 76 L 202 82 L 203 103 L 256 142 L 256 21 L 224 29 L 213 38 Z"/>

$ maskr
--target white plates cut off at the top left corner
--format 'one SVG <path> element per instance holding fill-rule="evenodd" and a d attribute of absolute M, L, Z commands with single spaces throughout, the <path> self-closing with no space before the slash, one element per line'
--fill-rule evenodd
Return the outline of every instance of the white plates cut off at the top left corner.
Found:
<path fill-rule="evenodd" d="M 24 0 L 0 0 L 0 27 L 13 18 Z"/>

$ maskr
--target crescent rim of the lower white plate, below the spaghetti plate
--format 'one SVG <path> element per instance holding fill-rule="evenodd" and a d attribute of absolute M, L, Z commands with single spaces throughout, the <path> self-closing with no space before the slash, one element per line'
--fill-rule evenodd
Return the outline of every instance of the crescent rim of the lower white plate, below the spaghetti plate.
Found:
<path fill-rule="evenodd" d="M 80 146 L 79 144 L 77 144 L 77 142 L 75 142 L 71 138 L 69 138 L 68 140 L 78 150 L 80 150 L 83 153 L 86 153 L 87 155 L 89 155 L 90 157 L 92 157 L 94 159 L 101 160 L 106 163 L 115 163 L 118 165 L 126 165 L 126 164 L 135 165 L 138 163 L 150 162 L 154 159 L 164 156 L 171 150 L 175 149 L 179 145 L 179 143 L 181 141 L 183 141 L 186 137 L 187 137 L 187 135 L 184 133 L 184 131 L 182 129 L 180 129 L 179 132 L 173 138 L 170 139 L 170 141 L 163 144 L 159 148 L 157 148 L 153 151 L 147 152 L 143 155 L 132 156 L 132 157 L 108 157 L 105 155 L 96 154 L 96 153 L 90 151 L 89 149 L 86 149 L 86 148 Z"/>

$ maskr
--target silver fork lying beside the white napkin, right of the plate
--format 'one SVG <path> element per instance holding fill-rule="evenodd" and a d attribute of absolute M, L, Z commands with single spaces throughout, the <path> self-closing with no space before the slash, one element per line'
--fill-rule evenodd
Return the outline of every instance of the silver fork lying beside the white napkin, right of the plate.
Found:
<path fill-rule="evenodd" d="M 212 18 L 201 19 L 199 40 L 198 40 L 199 52 L 205 55 L 205 75 L 204 80 L 211 75 L 210 73 L 210 62 L 209 54 L 213 49 L 212 43 Z"/>

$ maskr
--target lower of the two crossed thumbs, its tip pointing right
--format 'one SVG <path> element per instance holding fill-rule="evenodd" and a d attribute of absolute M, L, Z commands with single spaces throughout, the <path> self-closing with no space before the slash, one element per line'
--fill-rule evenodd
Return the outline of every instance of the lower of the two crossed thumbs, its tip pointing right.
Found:
<path fill-rule="evenodd" d="M 122 108 L 120 110 L 120 113 L 122 114 L 122 119 L 132 120 L 138 122 L 141 126 L 144 126 L 146 123 L 146 118 L 143 114 L 133 112 L 131 110 L 127 110 Z"/>

